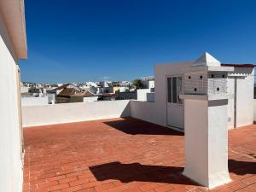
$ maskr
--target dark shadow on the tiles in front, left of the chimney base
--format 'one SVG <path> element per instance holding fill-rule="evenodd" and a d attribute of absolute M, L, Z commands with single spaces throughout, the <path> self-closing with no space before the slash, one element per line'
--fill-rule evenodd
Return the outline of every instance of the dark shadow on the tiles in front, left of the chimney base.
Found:
<path fill-rule="evenodd" d="M 120 162 L 112 162 L 90 166 L 90 172 L 94 174 L 98 181 L 115 179 L 122 183 L 140 181 L 195 184 L 189 178 L 183 177 L 183 167 L 176 166 L 148 166 L 139 163 L 121 164 Z"/>

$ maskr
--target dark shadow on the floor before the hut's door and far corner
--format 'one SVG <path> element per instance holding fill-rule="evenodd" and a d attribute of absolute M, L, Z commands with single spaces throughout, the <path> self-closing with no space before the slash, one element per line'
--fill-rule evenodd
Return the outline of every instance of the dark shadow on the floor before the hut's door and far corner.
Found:
<path fill-rule="evenodd" d="M 104 124 L 113 127 L 119 131 L 123 131 L 126 134 L 131 135 L 173 135 L 183 136 L 183 132 L 174 131 L 171 128 L 167 128 L 160 125 L 155 125 L 140 119 L 123 118 L 121 120 L 106 121 Z"/>

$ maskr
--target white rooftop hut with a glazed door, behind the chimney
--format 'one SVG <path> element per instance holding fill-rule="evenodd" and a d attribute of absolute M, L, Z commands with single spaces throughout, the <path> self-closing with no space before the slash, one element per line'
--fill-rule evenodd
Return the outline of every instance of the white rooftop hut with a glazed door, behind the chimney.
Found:
<path fill-rule="evenodd" d="M 155 67 L 155 104 L 162 114 L 166 114 L 160 118 L 161 124 L 165 122 L 166 125 L 183 129 L 183 100 L 179 99 L 179 94 L 183 93 L 184 90 L 183 80 L 189 78 L 185 77 L 184 73 L 191 72 L 193 74 L 193 67 L 191 65 L 195 62 L 218 63 L 212 55 L 206 53 L 201 55 L 197 61 L 157 65 Z M 229 129 L 253 124 L 254 66 L 234 64 L 221 64 L 221 66 L 235 67 L 234 73 L 227 74 L 228 91 L 233 95 L 228 104 L 229 113 L 227 120 Z M 196 78 L 201 77 L 196 73 L 190 76 L 191 81 L 194 81 L 191 89 L 195 89 L 195 94 L 201 94 L 203 87 L 198 82 L 195 82 Z M 214 77 L 214 73 L 212 73 L 211 78 L 219 77 Z M 170 82 L 169 86 L 168 82 Z M 172 100 L 169 99 L 168 101 L 168 96 L 171 97 L 171 94 Z"/>

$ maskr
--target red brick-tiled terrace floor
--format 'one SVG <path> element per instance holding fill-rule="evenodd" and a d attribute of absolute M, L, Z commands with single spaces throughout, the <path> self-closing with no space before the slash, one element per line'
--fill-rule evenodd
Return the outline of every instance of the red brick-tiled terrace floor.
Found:
<path fill-rule="evenodd" d="M 24 129 L 24 192 L 207 191 L 183 177 L 183 134 L 138 119 Z M 256 125 L 229 132 L 233 182 L 211 191 L 256 191 Z"/>

